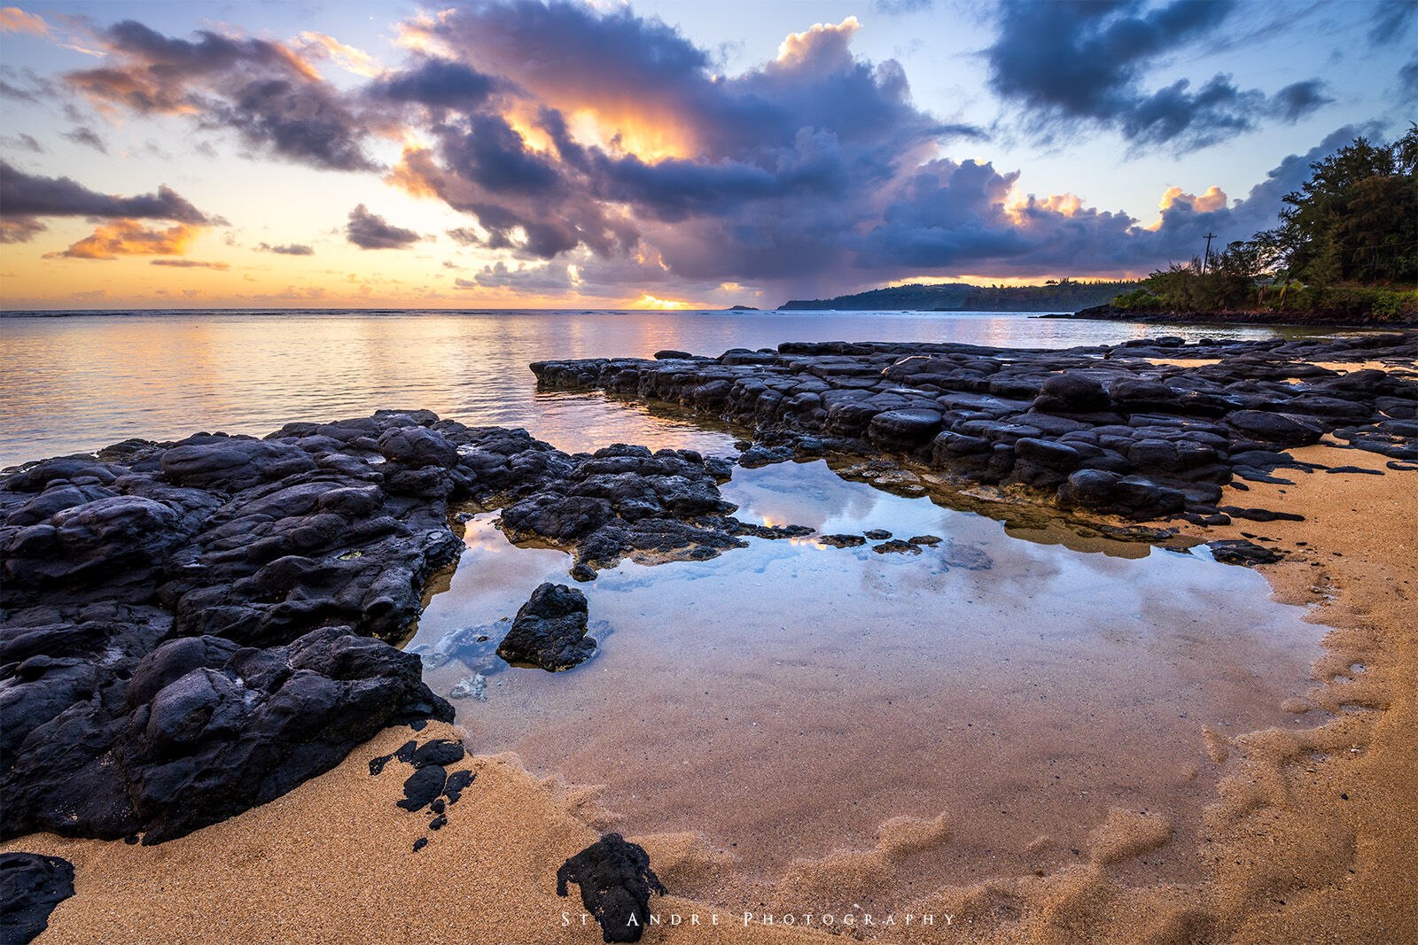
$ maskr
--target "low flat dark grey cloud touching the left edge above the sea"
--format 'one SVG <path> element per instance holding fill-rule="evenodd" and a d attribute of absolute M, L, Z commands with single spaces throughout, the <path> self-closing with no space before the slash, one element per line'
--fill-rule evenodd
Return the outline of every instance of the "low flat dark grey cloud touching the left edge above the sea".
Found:
<path fill-rule="evenodd" d="M 221 225 L 167 186 L 156 194 L 115 197 L 84 187 L 71 177 L 27 174 L 0 162 L 0 217 L 102 217 L 129 220 L 172 220 L 199 225 Z"/>

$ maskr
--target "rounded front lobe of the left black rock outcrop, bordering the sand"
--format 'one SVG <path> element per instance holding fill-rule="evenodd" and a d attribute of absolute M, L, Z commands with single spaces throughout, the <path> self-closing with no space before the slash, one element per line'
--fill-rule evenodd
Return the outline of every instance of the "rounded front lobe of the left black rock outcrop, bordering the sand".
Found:
<path fill-rule="evenodd" d="M 349 628 L 268 649 L 182 638 L 129 666 L 126 691 L 77 657 L 30 657 L 0 684 L 3 836 L 159 843 L 329 771 L 386 725 L 452 718 L 417 656 Z"/>

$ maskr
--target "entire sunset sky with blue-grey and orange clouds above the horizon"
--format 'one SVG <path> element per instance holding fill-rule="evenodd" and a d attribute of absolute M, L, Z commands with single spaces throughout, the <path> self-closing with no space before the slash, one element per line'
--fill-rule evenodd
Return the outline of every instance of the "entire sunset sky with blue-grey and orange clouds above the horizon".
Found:
<path fill-rule="evenodd" d="M 0 305 L 1139 276 L 1418 119 L 1414 0 L 0 9 Z"/>

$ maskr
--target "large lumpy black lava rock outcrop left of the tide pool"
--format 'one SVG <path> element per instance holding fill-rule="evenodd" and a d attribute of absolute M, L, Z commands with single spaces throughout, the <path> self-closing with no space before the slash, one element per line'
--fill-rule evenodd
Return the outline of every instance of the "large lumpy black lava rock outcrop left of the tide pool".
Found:
<path fill-rule="evenodd" d="M 271 800 L 380 728 L 452 708 L 400 640 L 462 547 L 455 503 L 577 555 L 713 557 L 732 463 L 567 455 L 428 411 L 265 439 L 125 441 L 0 479 L 0 837 L 157 843 Z"/>

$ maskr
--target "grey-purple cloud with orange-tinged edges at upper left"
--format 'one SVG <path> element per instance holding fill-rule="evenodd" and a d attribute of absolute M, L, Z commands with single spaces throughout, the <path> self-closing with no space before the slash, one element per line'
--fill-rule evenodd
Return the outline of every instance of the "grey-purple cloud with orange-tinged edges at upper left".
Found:
<path fill-rule="evenodd" d="M 194 40 L 125 20 L 96 34 L 112 62 L 64 81 L 99 108 L 140 115 L 190 113 L 230 128 L 257 147 L 332 170 L 373 170 L 356 103 L 279 43 L 207 30 Z"/>

